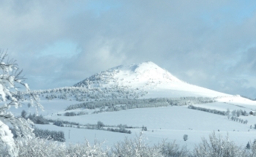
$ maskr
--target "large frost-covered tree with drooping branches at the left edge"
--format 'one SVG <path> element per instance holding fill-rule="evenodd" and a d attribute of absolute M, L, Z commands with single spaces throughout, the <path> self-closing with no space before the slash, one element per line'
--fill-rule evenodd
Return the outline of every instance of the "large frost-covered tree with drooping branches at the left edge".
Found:
<path fill-rule="evenodd" d="M 23 83 L 24 77 L 20 76 L 22 70 L 18 69 L 18 64 L 15 60 L 8 59 L 7 53 L 0 52 L 0 99 L 4 104 L 0 105 L 0 148 L 7 150 L 9 156 L 18 156 L 18 148 L 15 145 L 13 135 L 7 126 L 7 123 L 12 125 L 17 134 L 17 141 L 23 141 L 34 137 L 33 129 L 31 129 L 31 120 L 24 118 L 16 118 L 12 112 L 9 112 L 10 107 L 21 107 L 21 103 L 12 91 L 18 91 L 18 87 L 26 88 L 29 90 L 29 85 Z M 39 104 L 38 98 L 34 94 L 29 95 L 30 104 L 42 109 Z"/>

